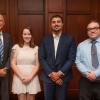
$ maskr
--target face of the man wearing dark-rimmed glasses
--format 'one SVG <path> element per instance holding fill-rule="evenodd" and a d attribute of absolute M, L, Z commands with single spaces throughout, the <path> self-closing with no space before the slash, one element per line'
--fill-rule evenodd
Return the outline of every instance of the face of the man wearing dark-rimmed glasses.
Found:
<path fill-rule="evenodd" d="M 100 26 L 99 23 L 97 22 L 91 22 L 87 26 L 87 34 L 90 39 L 96 39 L 100 37 Z"/>

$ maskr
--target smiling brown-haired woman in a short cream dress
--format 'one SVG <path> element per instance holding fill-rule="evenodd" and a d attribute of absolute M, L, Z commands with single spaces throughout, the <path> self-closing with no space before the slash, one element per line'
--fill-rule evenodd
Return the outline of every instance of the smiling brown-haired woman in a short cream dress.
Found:
<path fill-rule="evenodd" d="M 23 29 L 20 42 L 12 48 L 11 68 L 14 72 L 12 92 L 18 95 L 18 100 L 35 100 L 35 94 L 41 91 L 37 75 L 38 46 L 29 27 Z"/>

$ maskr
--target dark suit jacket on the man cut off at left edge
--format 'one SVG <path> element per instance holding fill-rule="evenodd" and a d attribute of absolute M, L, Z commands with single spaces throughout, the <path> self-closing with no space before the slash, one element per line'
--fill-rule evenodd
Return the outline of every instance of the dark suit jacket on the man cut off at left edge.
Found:
<path fill-rule="evenodd" d="M 10 64 L 10 52 L 12 41 L 11 37 L 7 33 L 3 33 L 3 43 L 4 43 L 4 54 L 3 54 L 3 61 L 0 62 L 0 69 L 3 67 L 7 67 L 9 69 Z"/>

